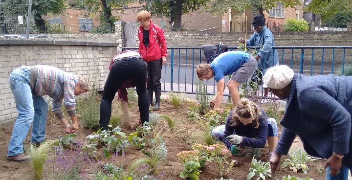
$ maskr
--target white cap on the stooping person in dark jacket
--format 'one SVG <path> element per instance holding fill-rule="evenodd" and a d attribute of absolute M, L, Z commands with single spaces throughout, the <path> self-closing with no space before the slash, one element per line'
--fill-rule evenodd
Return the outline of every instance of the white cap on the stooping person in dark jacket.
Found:
<path fill-rule="evenodd" d="M 293 70 L 286 65 L 270 67 L 263 76 L 263 87 L 280 90 L 293 79 Z"/>

